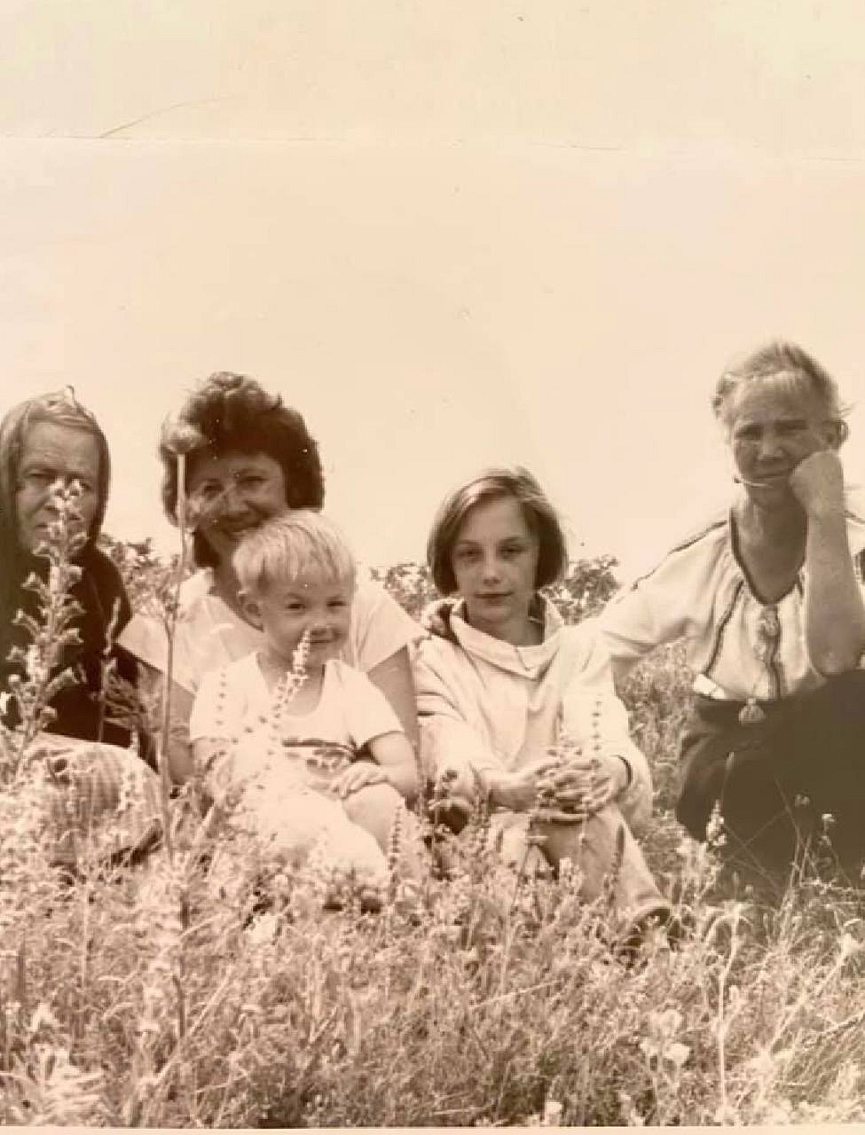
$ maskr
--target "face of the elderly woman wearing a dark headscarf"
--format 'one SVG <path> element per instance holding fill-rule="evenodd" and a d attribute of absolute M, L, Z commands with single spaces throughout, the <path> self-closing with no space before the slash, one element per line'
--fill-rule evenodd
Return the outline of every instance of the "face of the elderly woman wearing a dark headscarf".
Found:
<path fill-rule="evenodd" d="M 87 531 L 99 510 L 99 444 L 92 434 L 58 422 L 34 422 L 24 438 L 15 507 L 18 540 L 34 552 L 57 520 L 52 486 L 78 486 L 78 524 Z"/>

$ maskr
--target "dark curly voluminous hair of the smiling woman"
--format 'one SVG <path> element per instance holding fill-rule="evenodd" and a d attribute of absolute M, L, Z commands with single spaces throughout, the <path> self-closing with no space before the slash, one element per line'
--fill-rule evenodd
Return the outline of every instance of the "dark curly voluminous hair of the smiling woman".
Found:
<path fill-rule="evenodd" d="M 192 437 L 193 444 L 188 444 Z M 178 439 L 183 439 L 178 444 Z M 217 371 L 188 396 L 179 412 L 162 426 L 162 507 L 177 523 L 177 454 L 187 453 L 187 476 L 202 456 L 263 453 L 278 462 L 289 508 L 318 510 L 325 501 L 325 478 L 318 445 L 301 414 L 283 404 L 278 394 L 245 375 Z M 193 536 L 195 562 L 212 566 L 216 556 L 200 532 Z"/>

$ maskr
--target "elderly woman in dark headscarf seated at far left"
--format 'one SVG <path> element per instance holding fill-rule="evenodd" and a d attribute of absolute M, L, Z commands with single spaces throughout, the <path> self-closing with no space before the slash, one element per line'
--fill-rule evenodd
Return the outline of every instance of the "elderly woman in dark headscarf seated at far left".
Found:
<path fill-rule="evenodd" d="M 3 779 L 30 740 L 50 774 L 45 802 L 66 863 L 76 857 L 76 833 L 108 824 L 110 849 L 121 851 L 151 842 L 159 827 L 156 776 L 106 707 L 108 671 L 135 679 L 115 641 L 129 604 L 96 546 L 108 485 L 104 435 L 72 387 L 30 398 L 0 422 Z M 62 625 L 37 647 L 61 609 Z"/>

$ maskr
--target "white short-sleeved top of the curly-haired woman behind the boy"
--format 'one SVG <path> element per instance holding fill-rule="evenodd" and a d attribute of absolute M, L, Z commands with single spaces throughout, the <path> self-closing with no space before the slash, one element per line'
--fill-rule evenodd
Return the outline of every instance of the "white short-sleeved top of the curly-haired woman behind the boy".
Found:
<path fill-rule="evenodd" d="M 422 634 L 418 623 L 383 587 L 359 580 L 348 638 L 339 657 L 368 673 Z M 168 640 L 165 623 L 157 615 L 136 613 L 119 642 L 149 666 L 165 672 Z M 216 594 L 210 569 L 184 581 L 174 642 L 173 676 L 178 686 L 194 693 L 204 674 L 262 646 L 261 631 L 236 615 Z"/>

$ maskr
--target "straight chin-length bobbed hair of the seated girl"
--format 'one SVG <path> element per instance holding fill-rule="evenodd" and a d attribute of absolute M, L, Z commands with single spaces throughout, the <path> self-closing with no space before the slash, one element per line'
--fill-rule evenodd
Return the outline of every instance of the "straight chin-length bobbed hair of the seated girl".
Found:
<path fill-rule="evenodd" d="M 536 587 L 547 587 L 568 568 L 568 544 L 555 508 L 527 469 L 487 469 L 454 489 L 439 505 L 427 540 L 427 563 L 442 595 L 457 590 L 452 553 L 469 512 L 485 501 L 513 497 L 538 538 Z"/>

